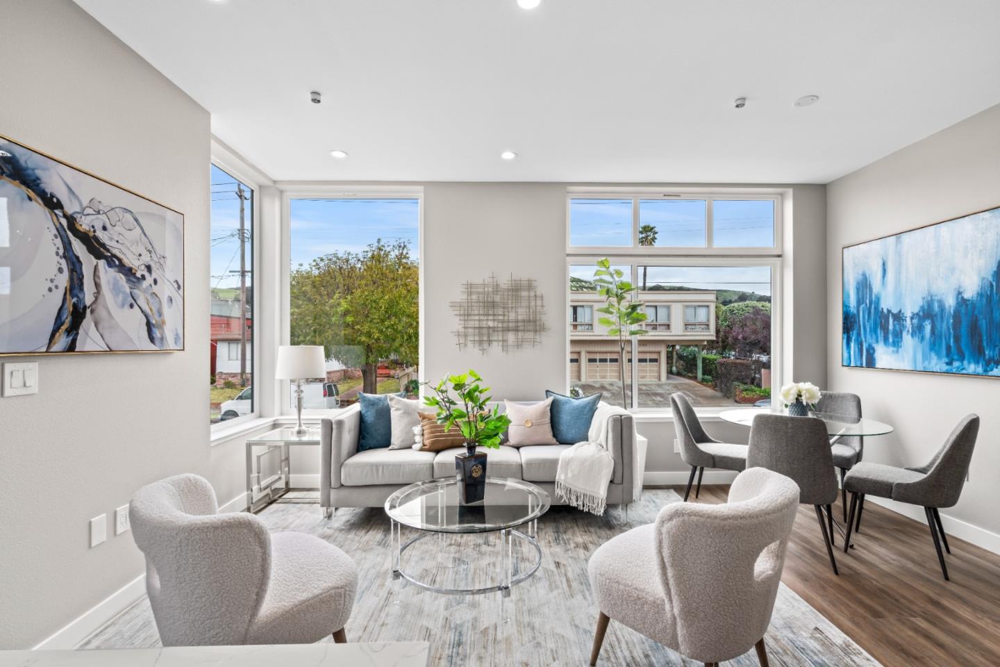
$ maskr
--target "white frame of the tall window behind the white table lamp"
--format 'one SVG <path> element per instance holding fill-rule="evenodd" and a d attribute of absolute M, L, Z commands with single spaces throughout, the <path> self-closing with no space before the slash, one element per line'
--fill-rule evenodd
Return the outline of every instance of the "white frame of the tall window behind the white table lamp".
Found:
<path fill-rule="evenodd" d="M 420 382 L 420 397 L 424 394 L 424 360 L 426 359 L 424 315 L 426 308 L 424 299 L 424 188 L 423 186 L 405 185 L 363 185 L 350 186 L 342 183 L 331 185 L 288 184 L 278 183 L 281 190 L 281 267 L 279 299 L 281 302 L 280 323 L 281 333 L 279 345 L 288 345 L 291 341 L 291 263 L 292 263 L 292 200 L 294 199 L 416 199 L 417 200 L 417 283 L 420 296 L 418 299 L 418 343 L 417 379 Z M 568 366 L 568 364 L 567 364 Z M 287 417 L 295 415 L 293 408 L 285 397 L 291 395 L 291 381 L 279 380 L 277 392 L 277 413 Z M 331 411 L 339 412 L 348 408 L 304 408 L 302 416 L 326 417 Z"/>

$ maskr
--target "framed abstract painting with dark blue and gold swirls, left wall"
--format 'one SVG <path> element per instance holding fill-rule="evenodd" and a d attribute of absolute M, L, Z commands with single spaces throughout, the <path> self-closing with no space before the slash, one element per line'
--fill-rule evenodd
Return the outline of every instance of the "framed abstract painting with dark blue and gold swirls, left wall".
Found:
<path fill-rule="evenodd" d="M 184 216 L 0 136 L 0 354 L 184 349 Z"/>

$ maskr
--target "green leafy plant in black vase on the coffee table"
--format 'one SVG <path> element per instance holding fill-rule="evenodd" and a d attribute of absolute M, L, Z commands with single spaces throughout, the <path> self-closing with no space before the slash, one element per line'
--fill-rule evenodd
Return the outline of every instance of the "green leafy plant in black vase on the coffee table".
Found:
<path fill-rule="evenodd" d="M 444 430 L 454 427 L 465 438 L 465 453 L 455 457 L 455 469 L 460 478 L 459 490 L 463 503 L 474 503 L 486 494 L 486 453 L 476 447 L 498 449 L 504 431 L 510 426 L 510 417 L 500 414 L 494 406 L 486 404 L 492 398 L 489 387 L 481 386 L 483 378 L 470 370 L 462 375 L 449 375 L 437 385 L 427 386 L 434 392 L 425 396 L 424 403 L 437 409 L 437 422 Z"/>

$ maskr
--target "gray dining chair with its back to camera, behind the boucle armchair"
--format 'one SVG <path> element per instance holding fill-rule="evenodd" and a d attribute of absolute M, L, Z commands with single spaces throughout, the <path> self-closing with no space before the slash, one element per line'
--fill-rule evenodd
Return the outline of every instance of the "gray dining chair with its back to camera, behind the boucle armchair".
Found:
<path fill-rule="evenodd" d="M 833 471 L 833 453 L 823 420 L 757 415 L 750 427 L 747 467 L 767 468 L 795 480 L 800 489 L 799 502 L 816 508 L 830 566 L 839 575 L 833 556 L 832 509 L 837 500 L 837 473 Z"/>

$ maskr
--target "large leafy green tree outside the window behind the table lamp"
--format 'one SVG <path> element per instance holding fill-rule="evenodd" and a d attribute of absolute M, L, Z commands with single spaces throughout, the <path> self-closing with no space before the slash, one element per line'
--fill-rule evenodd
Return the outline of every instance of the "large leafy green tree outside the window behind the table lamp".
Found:
<path fill-rule="evenodd" d="M 378 362 L 417 361 L 419 269 L 406 241 L 377 240 L 362 252 L 335 252 L 291 273 L 291 342 L 322 345 L 377 391 Z"/>

